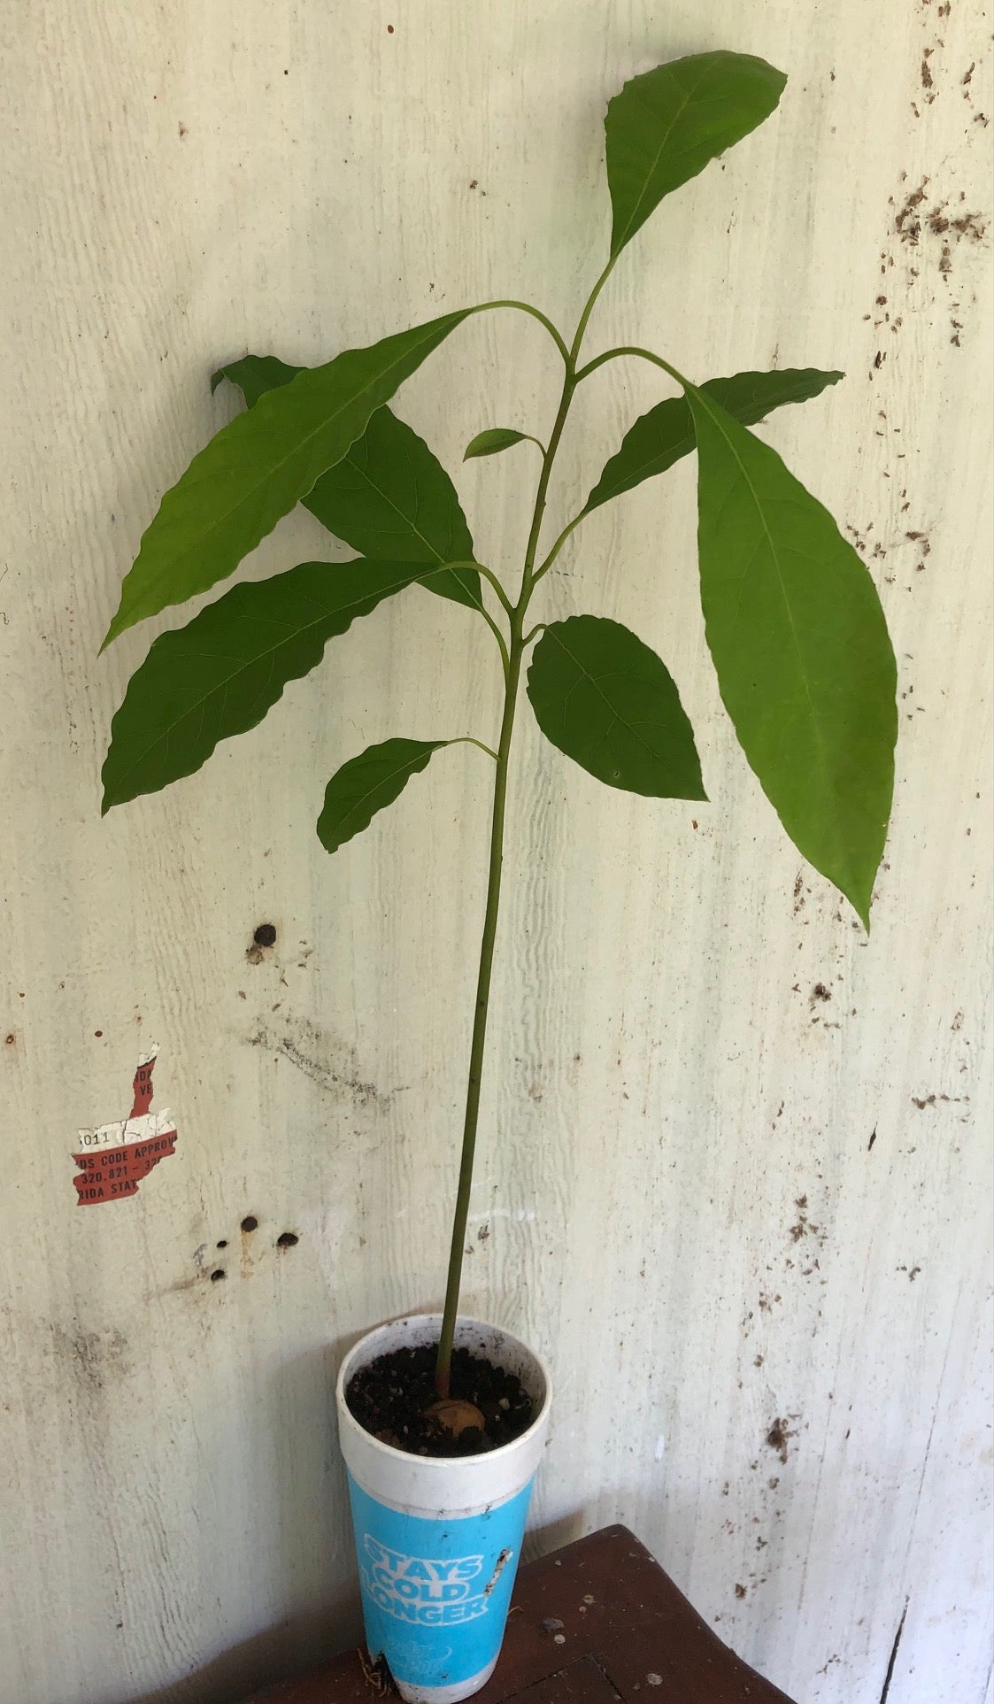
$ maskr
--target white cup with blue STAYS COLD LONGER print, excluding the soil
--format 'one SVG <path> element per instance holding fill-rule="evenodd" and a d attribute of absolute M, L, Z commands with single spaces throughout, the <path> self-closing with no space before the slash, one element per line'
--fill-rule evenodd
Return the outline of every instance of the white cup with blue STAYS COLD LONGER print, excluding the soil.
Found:
<path fill-rule="evenodd" d="M 367 1644 L 385 1656 L 407 1704 L 459 1704 L 489 1680 L 501 1648 L 532 1481 L 549 1426 L 549 1375 L 518 1338 L 460 1319 L 455 1344 L 513 1372 L 535 1418 L 513 1443 L 481 1455 L 407 1455 L 350 1413 L 360 1367 L 392 1350 L 436 1343 L 440 1314 L 370 1331 L 338 1375 Z"/>

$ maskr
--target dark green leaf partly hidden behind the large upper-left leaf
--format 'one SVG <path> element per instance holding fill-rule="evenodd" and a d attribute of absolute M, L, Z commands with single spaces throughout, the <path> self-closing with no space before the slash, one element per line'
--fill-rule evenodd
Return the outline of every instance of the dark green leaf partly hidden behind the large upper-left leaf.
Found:
<path fill-rule="evenodd" d="M 300 371 L 275 354 L 246 354 L 222 366 L 211 385 L 228 378 L 254 407 Z M 363 436 L 321 475 L 303 506 L 336 538 L 373 561 L 472 562 L 472 537 L 455 486 L 425 440 L 389 407 L 377 409 Z M 428 590 L 472 608 L 483 605 L 472 567 L 435 574 Z"/>

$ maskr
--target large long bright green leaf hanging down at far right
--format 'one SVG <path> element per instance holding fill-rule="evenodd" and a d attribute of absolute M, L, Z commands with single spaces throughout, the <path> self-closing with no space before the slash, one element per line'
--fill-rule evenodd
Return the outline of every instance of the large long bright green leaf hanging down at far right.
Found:
<path fill-rule="evenodd" d="M 687 389 L 701 602 L 721 697 L 788 835 L 870 927 L 897 740 L 876 588 L 776 450 Z"/>

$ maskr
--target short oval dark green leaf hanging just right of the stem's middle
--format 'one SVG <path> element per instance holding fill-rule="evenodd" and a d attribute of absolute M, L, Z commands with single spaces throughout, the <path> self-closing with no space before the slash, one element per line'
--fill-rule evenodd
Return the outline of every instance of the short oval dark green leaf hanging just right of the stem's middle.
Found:
<path fill-rule="evenodd" d="M 532 656 L 529 699 L 546 738 L 609 787 L 706 797 L 673 678 L 627 627 L 597 615 L 552 622 Z"/>

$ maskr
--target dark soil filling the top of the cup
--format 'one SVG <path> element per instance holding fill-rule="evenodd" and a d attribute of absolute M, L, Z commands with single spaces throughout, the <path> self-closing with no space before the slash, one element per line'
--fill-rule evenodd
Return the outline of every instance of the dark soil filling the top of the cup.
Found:
<path fill-rule="evenodd" d="M 469 1350 L 452 1355 L 452 1396 L 481 1411 L 484 1430 L 467 1426 L 459 1438 L 445 1431 L 425 1414 L 435 1402 L 435 1356 L 436 1344 L 426 1343 L 380 1355 L 360 1368 L 344 1394 L 360 1426 L 411 1455 L 479 1455 L 527 1431 L 534 1402 L 520 1379 Z"/>

